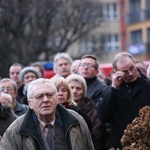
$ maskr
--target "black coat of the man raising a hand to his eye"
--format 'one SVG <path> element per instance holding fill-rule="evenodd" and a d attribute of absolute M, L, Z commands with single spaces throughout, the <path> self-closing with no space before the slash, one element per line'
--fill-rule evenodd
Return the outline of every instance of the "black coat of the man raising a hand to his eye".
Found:
<path fill-rule="evenodd" d="M 120 139 L 127 124 L 138 116 L 140 108 L 150 105 L 150 81 L 148 79 L 141 76 L 128 86 L 129 88 L 122 83 L 119 90 L 108 87 L 104 99 L 97 106 L 100 119 L 112 123 L 109 148 L 122 147 Z"/>

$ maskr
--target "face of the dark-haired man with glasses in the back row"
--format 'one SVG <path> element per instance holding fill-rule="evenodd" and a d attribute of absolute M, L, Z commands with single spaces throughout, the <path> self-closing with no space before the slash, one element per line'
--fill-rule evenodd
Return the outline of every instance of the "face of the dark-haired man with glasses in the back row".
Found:
<path fill-rule="evenodd" d="M 98 74 L 96 69 L 95 60 L 91 58 L 84 58 L 81 60 L 81 63 L 78 68 L 78 73 L 84 78 L 93 78 Z"/>

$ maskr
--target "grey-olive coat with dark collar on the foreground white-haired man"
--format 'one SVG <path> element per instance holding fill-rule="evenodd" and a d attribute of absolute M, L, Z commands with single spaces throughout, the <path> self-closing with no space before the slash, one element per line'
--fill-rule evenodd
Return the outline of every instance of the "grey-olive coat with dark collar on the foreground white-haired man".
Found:
<path fill-rule="evenodd" d="M 73 110 L 66 110 L 63 106 L 57 106 L 61 115 L 65 141 L 71 143 L 68 150 L 94 150 L 91 136 L 84 119 Z M 18 117 L 5 132 L 0 150 L 50 150 L 46 138 L 41 133 L 38 119 L 29 109 L 28 112 Z"/>

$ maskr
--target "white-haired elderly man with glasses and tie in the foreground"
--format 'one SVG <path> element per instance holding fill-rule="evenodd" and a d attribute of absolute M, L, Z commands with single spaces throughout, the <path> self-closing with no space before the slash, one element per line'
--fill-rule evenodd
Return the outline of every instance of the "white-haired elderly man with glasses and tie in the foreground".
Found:
<path fill-rule="evenodd" d="M 58 104 L 57 89 L 50 80 L 32 81 L 27 97 L 30 108 L 5 132 L 1 150 L 94 150 L 84 119 Z"/>

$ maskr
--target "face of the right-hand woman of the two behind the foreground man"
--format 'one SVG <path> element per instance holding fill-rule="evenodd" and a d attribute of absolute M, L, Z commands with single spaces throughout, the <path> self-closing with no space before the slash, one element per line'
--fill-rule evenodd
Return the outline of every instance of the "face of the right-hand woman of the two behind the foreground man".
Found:
<path fill-rule="evenodd" d="M 78 81 L 70 81 L 68 84 L 71 88 L 71 92 L 73 93 L 73 100 L 75 102 L 79 102 L 84 95 L 81 83 Z"/>

